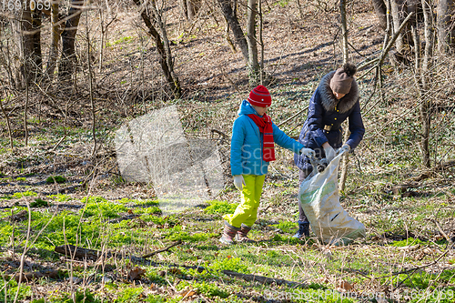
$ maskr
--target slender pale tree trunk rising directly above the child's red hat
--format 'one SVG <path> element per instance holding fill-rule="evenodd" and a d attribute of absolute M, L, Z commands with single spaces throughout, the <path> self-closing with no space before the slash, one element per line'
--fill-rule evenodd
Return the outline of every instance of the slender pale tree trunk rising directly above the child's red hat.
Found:
<path fill-rule="evenodd" d="M 249 80 L 253 86 L 256 86 L 259 81 L 259 65 L 258 65 L 258 44 L 256 40 L 256 15 L 258 11 L 257 0 L 248 0 L 248 70 Z"/>

